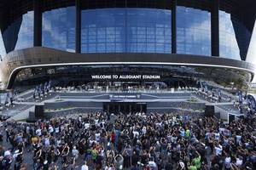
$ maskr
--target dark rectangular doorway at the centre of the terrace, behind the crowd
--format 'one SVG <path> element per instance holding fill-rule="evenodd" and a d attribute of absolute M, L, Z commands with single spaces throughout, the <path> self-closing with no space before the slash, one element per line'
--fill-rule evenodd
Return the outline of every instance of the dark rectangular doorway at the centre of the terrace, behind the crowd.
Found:
<path fill-rule="evenodd" d="M 103 111 L 107 113 L 136 113 L 136 112 L 147 112 L 146 103 L 137 102 L 108 102 L 103 103 Z"/>

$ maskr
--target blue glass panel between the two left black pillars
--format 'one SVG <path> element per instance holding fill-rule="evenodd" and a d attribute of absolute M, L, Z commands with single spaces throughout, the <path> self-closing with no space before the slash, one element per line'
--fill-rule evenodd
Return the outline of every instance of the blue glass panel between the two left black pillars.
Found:
<path fill-rule="evenodd" d="M 75 7 L 45 11 L 42 16 L 42 45 L 75 52 Z"/>

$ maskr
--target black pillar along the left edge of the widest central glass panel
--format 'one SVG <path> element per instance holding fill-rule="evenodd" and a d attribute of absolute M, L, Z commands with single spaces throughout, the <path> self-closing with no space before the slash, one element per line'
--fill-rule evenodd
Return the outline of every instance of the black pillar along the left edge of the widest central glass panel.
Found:
<path fill-rule="evenodd" d="M 76 0 L 76 53 L 81 53 L 81 8 L 80 8 L 80 0 Z"/>

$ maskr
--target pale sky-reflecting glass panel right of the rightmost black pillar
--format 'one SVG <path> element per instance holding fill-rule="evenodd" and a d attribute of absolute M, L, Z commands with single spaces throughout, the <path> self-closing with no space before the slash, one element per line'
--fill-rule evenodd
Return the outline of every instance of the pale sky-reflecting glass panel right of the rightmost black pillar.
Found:
<path fill-rule="evenodd" d="M 241 60 L 231 14 L 224 11 L 219 11 L 219 55 L 224 58 Z"/>

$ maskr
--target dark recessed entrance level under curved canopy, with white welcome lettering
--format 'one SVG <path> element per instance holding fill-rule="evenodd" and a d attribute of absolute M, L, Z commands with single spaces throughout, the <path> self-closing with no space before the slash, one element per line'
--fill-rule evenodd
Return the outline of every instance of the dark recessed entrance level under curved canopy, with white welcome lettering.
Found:
<path fill-rule="evenodd" d="M 225 71 L 225 74 L 223 74 Z M 188 65 L 49 65 L 26 68 L 9 80 L 14 87 L 29 87 L 51 81 L 52 87 L 76 88 L 89 92 L 144 93 L 172 89 L 220 88 L 230 94 L 236 89 L 247 89 L 252 75 L 207 66 Z M 214 83 L 213 83 L 214 82 Z"/>

